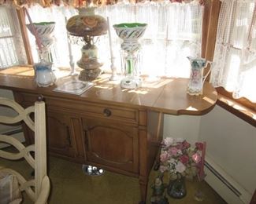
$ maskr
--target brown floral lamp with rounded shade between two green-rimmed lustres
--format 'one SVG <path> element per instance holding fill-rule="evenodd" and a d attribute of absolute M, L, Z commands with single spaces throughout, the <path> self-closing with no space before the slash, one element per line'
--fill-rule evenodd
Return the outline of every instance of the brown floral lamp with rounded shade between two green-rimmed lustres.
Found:
<path fill-rule="evenodd" d="M 81 49 L 81 58 L 77 65 L 82 68 L 79 79 L 91 81 L 101 73 L 100 67 L 103 65 L 98 62 L 98 49 L 95 46 L 95 37 L 105 35 L 107 32 L 107 21 L 104 17 L 95 15 L 95 7 L 84 7 L 79 9 L 79 14 L 72 16 L 66 29 L 69 35 L 82 38 L 85 43 Z"/>

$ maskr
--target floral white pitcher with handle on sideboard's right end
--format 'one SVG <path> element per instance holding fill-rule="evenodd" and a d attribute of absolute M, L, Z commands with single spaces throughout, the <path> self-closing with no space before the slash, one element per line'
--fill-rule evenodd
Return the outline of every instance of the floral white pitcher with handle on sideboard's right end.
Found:
<path fill-rule="evenodd" d="M 204 68 L 206 68 L 208 64 L 211 65 L 212 62 L 200 57 L 192 56 L 187 56 L 187 59 L 191 64 L 191 74 L 187 84 L 187 93 L 195 96 L 201 95 L 203 84 L 206 81 L 206 77 L 210 74 L 211 67 L 206 75 L 203 74 L 203 71 Z"/>

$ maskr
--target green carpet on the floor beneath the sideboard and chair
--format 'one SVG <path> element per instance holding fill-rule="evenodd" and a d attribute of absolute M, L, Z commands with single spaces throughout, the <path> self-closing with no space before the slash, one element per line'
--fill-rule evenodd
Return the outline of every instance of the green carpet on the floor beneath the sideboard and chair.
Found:
<path fill-rule="evenodd" d="M 139 180 L 117 173 L 105 172 L 99 177 L 89 177 L 82 171 L 82 166 L 68 162 L 61 158 L 50 157 L 49 177 L 51 180 L 50 204 L 138 204 Z M 9 166 L 13 169 L 22 169 L 25 177 L 30 177 L 31 167 L 24 161 L 9 162 L 3 159 L 0 166 Z M 147 204 L 150 204 L 152 189 L 150 185 L 156 176 L 154 170 L 150 173 Z M 169 199 L 170 204 L 222 204 L 226 203 L 206 182 L 186 181 L 187 195 L 184 199 Z M 202 189 L 205 199 L 198 202 L 194 199 L 197 189 Z M 24 204 L 29 204 L 24 198 Z"/>

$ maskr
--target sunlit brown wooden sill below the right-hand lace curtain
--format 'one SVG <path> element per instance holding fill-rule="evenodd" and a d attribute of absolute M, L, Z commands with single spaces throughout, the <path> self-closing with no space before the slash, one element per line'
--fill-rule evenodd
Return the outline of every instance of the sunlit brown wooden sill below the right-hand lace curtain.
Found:
<path fill-rule="evenodd" d="M 218 93 L 217 105 L 223 107 L 225 110 L 231 112 L 233 115 L 241 118 L 250 125 L 256 127 L 256 112 L 248 107 L 239 104 L 235 100 L 232 100 L 224 95 Z"/>

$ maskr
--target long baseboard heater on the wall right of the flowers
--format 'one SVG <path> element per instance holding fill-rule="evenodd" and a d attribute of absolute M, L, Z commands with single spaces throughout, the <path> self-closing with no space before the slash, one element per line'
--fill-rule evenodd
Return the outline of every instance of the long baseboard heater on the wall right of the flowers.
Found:
<path fill-rule="evenodd" d="M 212 159 L 205 160 L 206 182 L 217 191 L 219 195 L 231 204 L 247 204 L 250 202 L 251 194 L 240 184 L 229 176 L 228 173 L 217 166 Z"/>

